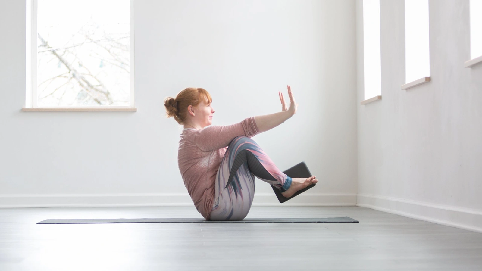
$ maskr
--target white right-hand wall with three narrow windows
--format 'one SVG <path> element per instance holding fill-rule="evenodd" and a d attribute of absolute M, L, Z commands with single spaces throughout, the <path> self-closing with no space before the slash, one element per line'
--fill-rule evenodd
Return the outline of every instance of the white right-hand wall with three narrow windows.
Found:
<path fill-rule="evenodd" d="M 357 205 L 482 231 L 482 65 L 470 59 L 469 0 L 430 0 L 431 81 L 408 90 L 404 0 L 380 1 L 382 100 L 363 100 L 356 1 Z"/>

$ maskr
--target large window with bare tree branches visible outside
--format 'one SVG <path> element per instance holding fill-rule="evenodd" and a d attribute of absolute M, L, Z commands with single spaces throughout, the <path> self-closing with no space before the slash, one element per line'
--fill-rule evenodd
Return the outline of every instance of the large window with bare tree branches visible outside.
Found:
<path fill-rule="evenodd" d="M 134 108 L 133 8 L 28 0 L 26 108 Z"/>

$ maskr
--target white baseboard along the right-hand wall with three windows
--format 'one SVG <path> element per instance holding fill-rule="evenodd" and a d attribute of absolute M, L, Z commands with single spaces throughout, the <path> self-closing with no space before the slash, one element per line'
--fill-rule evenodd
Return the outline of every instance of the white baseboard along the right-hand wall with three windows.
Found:
<path fill-rule="evenodd" d="M 480 210 L 360 193 L 356 206 L 482 233 Z"/>

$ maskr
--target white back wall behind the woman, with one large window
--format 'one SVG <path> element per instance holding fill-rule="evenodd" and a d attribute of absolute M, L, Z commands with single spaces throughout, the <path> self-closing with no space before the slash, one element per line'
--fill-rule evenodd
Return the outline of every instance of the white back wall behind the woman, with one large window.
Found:
<path fill-rule="evenodd" d="M 285 205 L 351 204 L 357 192 L 354 0 L 136 0 L 137 112 L 21 112 L 25 1 L 0 1 L 0 207 L 193 206 L 177 167 L 182 127 L 163 99 L 202 87 L 214 125 L 297 114 L 255 136 L 281 170 L 321 180 Z M 257 181 L 255 203 L 277 203 Z M 194 206 L 193 206 L 194 208 Z"/>

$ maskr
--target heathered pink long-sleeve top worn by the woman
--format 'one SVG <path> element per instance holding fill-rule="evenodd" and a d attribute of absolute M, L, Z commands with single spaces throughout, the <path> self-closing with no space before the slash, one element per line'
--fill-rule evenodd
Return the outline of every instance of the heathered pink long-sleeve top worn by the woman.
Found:
<path fill-rule="evenodd" d="M 254 117 L 225 126 L 207 126 L 181 132 L 177 163 L 184 185 L 202 217 L 209 220 L 214 202 L 214 182 L 229 143 L 236 136 L 259 134 Z"/>

